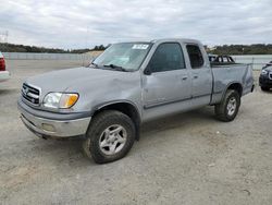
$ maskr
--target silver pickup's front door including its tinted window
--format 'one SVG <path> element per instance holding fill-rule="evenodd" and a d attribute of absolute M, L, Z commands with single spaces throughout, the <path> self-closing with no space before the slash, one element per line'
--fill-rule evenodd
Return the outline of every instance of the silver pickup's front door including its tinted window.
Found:
<path fill-rule="evenodd" d="M 191 98 L 191 77 L 178 43 L 157 47 L 144 75 L 143 101 L 146 111 L 182 104 Z"/>

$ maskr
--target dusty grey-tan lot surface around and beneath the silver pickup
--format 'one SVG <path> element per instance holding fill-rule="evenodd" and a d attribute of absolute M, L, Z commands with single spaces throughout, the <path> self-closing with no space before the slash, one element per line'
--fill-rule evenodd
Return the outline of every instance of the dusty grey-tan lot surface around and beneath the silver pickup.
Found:
<path fill-rule="evenodd" d="M 8 61 L 0 84 L 0 204 L 272 204 L 272 92 L 243 98 L 231 123 L 213 108 L 144 126 L 127 157 L 96 165 L 81 141 L 45 141 L 18 119 L 16 99 L 30 75 L 81 65 Z"/>

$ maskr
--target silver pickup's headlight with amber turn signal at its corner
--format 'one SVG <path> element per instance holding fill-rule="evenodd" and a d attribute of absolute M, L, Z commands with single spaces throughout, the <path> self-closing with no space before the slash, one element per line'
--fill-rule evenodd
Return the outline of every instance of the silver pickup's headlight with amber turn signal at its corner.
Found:
<path fill-rule="evenodd" d="M 49 93 L 44 98 L 44 106 L 47 108 L 71 108 L 78 99 L 78 94 Z"/>

